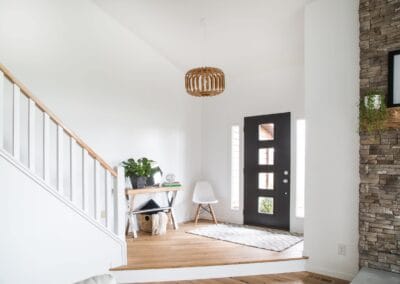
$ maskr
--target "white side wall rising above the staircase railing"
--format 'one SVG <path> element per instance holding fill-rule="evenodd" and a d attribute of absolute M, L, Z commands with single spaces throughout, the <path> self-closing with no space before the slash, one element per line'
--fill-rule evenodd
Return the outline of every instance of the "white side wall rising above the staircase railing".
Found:
<path fill-rule="evenodd" d="M 175 173 L 190 218 L 201 102 L 182 71 L 88 0 L 1 1 L 0 62 L 111 165 L 147 156 Z"/>

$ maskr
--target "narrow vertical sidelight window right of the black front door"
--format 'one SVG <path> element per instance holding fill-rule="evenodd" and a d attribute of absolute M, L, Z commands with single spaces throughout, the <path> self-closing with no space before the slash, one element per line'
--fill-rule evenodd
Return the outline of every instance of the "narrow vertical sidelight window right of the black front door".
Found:
<path fill-rule="evenodd" d="M 296 122 L 296 217 L 304 218 L 306 121 Z"/>

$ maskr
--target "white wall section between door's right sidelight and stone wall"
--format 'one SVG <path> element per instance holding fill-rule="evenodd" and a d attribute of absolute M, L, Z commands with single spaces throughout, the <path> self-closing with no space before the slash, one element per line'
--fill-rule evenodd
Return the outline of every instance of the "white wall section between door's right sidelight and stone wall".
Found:
<path fill-rule="evenodd" d="M 317 0 L 305 13 L 307 270 L 347 279 L 358 269 L 357 11 L 357 0 Z"/>

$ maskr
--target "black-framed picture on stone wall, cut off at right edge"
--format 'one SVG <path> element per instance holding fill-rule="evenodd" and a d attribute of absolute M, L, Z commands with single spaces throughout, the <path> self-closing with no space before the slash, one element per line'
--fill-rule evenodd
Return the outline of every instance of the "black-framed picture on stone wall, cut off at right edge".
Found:
<path fill-rule="evenodd" d="M 389 52 L 388 107 L 400 106 L 400 50 Z"/>

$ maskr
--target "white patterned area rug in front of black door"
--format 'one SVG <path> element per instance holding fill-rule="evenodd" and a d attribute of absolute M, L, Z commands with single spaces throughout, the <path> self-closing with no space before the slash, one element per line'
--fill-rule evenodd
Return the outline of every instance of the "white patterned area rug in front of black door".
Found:
<path fill-rule="evenodd" d="M 187 233 L 276 252 L 303 240 L 301 235 L 286 231 L 232 224 L 204 226 Z"/>

